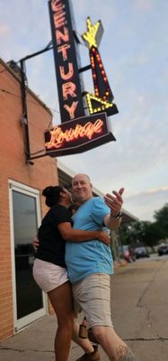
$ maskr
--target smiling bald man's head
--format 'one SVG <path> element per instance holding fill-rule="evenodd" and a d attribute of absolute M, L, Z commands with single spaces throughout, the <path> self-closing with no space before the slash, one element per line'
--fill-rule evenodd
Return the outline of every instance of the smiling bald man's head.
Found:
<path fill-rule="evenodd" d="M 76 174 L 72 180 L 72 191 L 77 203 L 83 204 L 93 197 L 93 185 L 87 174 Z"/>

